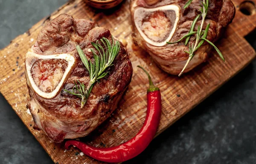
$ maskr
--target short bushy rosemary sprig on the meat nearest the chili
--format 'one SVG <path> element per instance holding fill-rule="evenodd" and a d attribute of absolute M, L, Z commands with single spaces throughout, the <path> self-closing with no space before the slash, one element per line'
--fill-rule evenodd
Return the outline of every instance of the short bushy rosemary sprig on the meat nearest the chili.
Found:
<path fill-rule="evenodd" d="M 112 45 L 111 42 L 105 37 L 102 37 L 102 39 L 100 39 L 100 42 L 102 42 L 105 49 L 102 47 L 102 45 L 99 44 L 99 40 L 97 40 L 96 43 L 91 42 L 93 47 L 99 53 L 99 55 L 97 55 L 96 52 L 92 48 L 90 48 L 93 53 L 94 62 L 92 62 L 91 59 L 89 59 L 88 61 L 81 47 L 79 45 L 76 45 L 79 57 L 90 74 L 90 82 L 88 86 L 85 87 L 84 83 L 81 83 L 79 82 L 79 80 L 77 80 L 79 85 L 74 82 L 75 86 L 73 87 L 72 92 L 66 89 L 65 91 L 81 98 L 81 108 L 83 108 L 84 104 L 87 102 L 94 83 L 108 74 L 108 72 L 105 72 L 105 70 L 113 65 L 112 63 L 120 49 L 119 41 L 115 42 L 113 37 Z"/>

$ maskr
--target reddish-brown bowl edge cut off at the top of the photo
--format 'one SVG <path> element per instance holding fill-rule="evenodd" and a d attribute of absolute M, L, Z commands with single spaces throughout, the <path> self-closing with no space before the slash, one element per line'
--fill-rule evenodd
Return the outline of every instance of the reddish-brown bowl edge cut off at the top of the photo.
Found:
<path fill-rule="evenodd" d="M 94 8 L 108 9 L 119 5 L 122 0 L 85 0 L 85 2 Z"/>

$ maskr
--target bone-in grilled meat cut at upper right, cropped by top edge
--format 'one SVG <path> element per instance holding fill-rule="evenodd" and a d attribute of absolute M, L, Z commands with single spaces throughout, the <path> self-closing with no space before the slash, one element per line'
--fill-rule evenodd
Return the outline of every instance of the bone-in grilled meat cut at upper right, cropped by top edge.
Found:
<path fill-rule="evenodd" d="M 201 13 L 201 0 L 193 0 L 184 9 L 187 0 L 132 0 L 131 15 L 134 26 L 134 42 L 145 49 L 163 71 L 169 74 L 179 74 L 184 67 L 189 54 L 184 41 L 175 42 L 189 33 L 195 17 Z M 232 22 L 235 8 L 230 0 L 209 0 L 209 8 L 203 30 L 210 23 L 207 39 L 215 42 L 221 37 L 224 28 Z M 201 18 L 200 18 L 201 19 Z M 198 20 L 194 31 L 201 20 Z M 191 37 L 189 43 L 195 42 Z M 204 44 L 195 52 L 185 72 L 190 71 L 207 58 L 211 46 Z"/>

